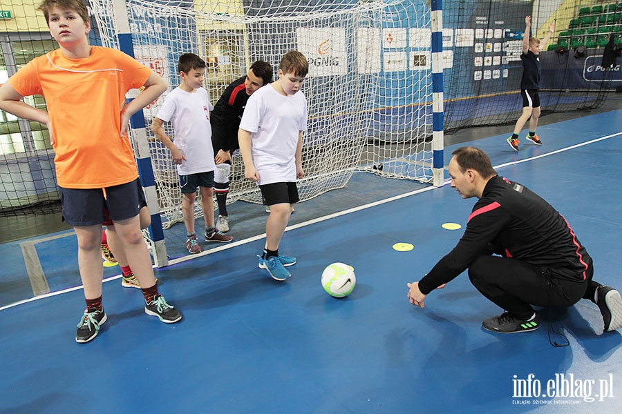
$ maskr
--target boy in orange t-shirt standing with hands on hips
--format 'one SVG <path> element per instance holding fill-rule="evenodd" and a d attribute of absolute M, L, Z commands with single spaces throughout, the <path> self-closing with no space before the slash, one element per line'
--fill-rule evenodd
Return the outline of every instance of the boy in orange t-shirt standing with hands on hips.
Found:
<path fill-rule="evenodd" d="M 100 259 L 102 222 L 109 217 L 144 294 L 144 310 L 174 323 L 180 313 L 158 293 L 140 231 L 138 170 L 127 136 L 130 117 L 159 97 L 167 83 L 124 53 L 90 46 L 82 0 L 44 0 L 39 6 L 60 48 L 30 61 L 0 87 L 0 109 L 45 124 L 55 151 L 63 218 L 75 229 L 86 311 L 76 342 L 97 336 L 106 322 Z M 144 86 L 131 102 L 126 93 Z M 43 95 L 48 112 L 21 101 Z"/>

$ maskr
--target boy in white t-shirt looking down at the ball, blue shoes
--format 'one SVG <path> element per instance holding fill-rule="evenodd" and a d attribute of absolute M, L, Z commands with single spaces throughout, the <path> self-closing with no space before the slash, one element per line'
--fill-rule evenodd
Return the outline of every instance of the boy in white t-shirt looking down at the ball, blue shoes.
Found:
<path fill-rule="evenodd" d="M 300 88 L 308 71 L 301 52 L 286 53 L 279 79 L 249 97 L 238 131 L 246 178 L 259 184 L 263 204 L 270 206 L 259 267 L 276 280 L 291 277 L 285 266 L 296 264 L 296 257 L 279 255 L 279 243 L 299 201 L 296 178 L 305 175 L 302 135 L 307 129 L 307 99 Z"/>

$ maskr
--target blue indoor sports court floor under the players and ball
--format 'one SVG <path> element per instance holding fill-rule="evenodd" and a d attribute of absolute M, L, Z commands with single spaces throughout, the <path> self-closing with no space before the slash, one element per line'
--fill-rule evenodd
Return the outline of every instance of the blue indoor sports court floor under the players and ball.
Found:
<path fill-rule="evenodd" d="M 622 110 L 615 110 L 541 126 L 544 145 L 523 138 L 518 153 L 507 135 L 470 143 L 488 152 L 500 175 L 558 208 L 594 258 L 594 279 L 618 288 L 621 126 Z M 455 148 L 445 149 L 445 164 Z M 350 191 L 377 186 L 357 180 Z M 299 259 L 288 282 L 257 268 L 261 237 L 156 270 L 160 292 L 184 315 L 178 324 L 145 315 L 140 291 L 118 279 L 104 283 L 109 319 L 88 344 L 74 339 L 82 290 L 0 308 L 0 413 L 621 412 L 622 336 L 603 334 L 591 302 L 543 310 L 538 331 L 516 335 L 482 330 L 482 320 L 502 310 L 466 275 L 431 293 L 425 309 L 408 303 L 406 283 L 458 242 L 475 200 L 460 199 L 449 185 L 397 182 L 404 197 L 326 219 L 303 221 L 308 207 L 296 206 L 301 218 L 280 248 Z M 348 189 L 330 193 L 340 191 Z M 260 210 L 256 220 L 265 217 Z M 448 222 L 463 228 L 445 230 Z M 45 243 L 55 240 L 48 253 L 37 247 L 46 275 L 59 261 L 55 252 L 75 252 L 72 236 Z M 393 250 L 397 242 L 415 248 Z M 19 245 L 1 248 L 1 272 L 19 274 Z M 77 277 L 72 260 L 56 267 Z M 332 262 L 355 268 L 357 286 L 345 299 L 321 288 Z M 3 282 L 2 291 L 18 297 L 19 283 Z M 552 346 L 549 340 L 565 339 L 549 327 L 569 346 Z M 519 383 L 532 393 L 550 385 L 558 395 L 517 395 Z"/>

